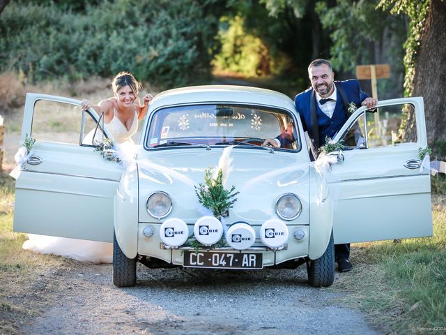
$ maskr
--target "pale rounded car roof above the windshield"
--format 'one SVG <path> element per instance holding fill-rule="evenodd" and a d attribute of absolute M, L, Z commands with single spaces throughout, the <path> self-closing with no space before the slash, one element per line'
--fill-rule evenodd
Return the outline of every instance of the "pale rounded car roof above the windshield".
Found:
<path fill-rule="evenodd" d="M 234 85 L 203 85 L 169 89 L 155 96 L 151 101 L 151 110 L 167 105 L 219 102 L 281 107 L 295 112 L 293 101 L 285 94 L 270 89 Z"/>

